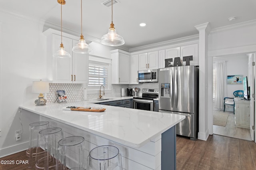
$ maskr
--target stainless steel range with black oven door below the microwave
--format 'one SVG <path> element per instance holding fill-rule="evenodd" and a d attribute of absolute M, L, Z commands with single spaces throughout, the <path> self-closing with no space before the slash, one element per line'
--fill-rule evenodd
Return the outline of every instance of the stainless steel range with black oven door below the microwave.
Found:
<path fill-rule="evenodd" d="M 141 97 L 133 97 L 134 109 L 154 111 L 154 99 L 158 98 L 158 89 L 142 89 Z"/>

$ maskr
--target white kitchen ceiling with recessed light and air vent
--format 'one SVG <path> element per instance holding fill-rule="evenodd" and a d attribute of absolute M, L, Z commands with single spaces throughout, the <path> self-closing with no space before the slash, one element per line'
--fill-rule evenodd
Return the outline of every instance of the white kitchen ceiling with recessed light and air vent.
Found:
<path fill-rule="evenodd" d="M 104 0 L 83 0 L 83 35 L 100 39 L 111 23 L 111 6 Z M 113 23 L 127 49 L 198 34 L 194 26 L 219 28 L 256 19 L 256 0 L 118 0 Z M 80 0 L 62 6 L 63 27 L 80 32 Z M 41 18 L 60 25 L 57 0 L 0 0 L 0 10 Z M 228 18 L 236 16 L 230 22 Z M 146 23 L 141 28 L 139 24 Z"/>

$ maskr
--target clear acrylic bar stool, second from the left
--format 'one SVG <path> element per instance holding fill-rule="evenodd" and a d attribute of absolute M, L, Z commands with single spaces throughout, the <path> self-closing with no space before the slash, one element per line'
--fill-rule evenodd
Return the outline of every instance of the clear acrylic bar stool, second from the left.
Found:
<path fill-rule="evenodd" d="M 61 128 L 46 128 L 39 132 L 36 147 L 36 170 L 52 169 L 56 166 L 58 141 L 63 138 Z M 44 149 L 43 154 L 42 149 Z"/>

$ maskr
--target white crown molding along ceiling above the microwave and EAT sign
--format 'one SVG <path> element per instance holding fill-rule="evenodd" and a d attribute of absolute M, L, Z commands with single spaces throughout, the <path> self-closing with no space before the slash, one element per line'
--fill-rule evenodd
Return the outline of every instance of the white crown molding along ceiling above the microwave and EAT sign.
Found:
<path fill-rule="evenodd" d="M 184 42 L 195 41 L 195 40 L 199 40 L 199 34 L 196 34 L 193 36 L 177 38 L 174 40 L 159 42 L 159 43 L 152 43 L 152 44 L 144 45 L 144 46 L 140 46 L 140 47 L 130 48 L 129 52 L 133 53 L 133 52 L 138 52 L 138 51 L 143 51 L 143 50 L 148 50 L 148 49 L 153 49 L 153 48 L 158 48 L 158 47 L 163 47 L 163 46 L 170 46 L 170 45 L 175 45 L 178 43 L 184 43 Z"/>

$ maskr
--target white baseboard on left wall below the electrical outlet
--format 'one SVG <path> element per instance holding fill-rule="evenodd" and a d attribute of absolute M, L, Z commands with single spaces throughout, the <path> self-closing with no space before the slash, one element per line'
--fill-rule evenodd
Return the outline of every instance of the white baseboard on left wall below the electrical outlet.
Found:
<path fill-rule="evenodd" d="M 20 143 L 17 145 L 9 146 L 7 148 L 0 149 L 0 158 L 15 154 L 28 149 L 28 142 Z"/>

